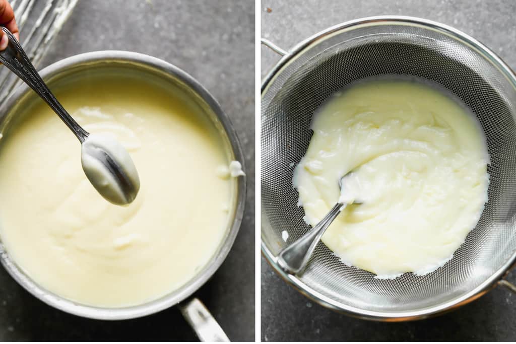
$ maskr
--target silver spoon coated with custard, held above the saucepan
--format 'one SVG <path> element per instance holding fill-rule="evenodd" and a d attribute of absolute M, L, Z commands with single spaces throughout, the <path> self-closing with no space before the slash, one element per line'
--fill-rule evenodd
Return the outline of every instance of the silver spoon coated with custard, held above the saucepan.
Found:
<path fill-rule="evenodd" d="M 9 45 L 0 51 L 0 62 L 30 86 L 72 130 L 81 144 L 81 162 L 93 187 L 109 202 L 124 205 L 134 201 L 140 179 L 131 156 L 120 143 L 107 136 L 90 135 L 57 101 L 27 54 L 11 32 L 1 27 Z"/>

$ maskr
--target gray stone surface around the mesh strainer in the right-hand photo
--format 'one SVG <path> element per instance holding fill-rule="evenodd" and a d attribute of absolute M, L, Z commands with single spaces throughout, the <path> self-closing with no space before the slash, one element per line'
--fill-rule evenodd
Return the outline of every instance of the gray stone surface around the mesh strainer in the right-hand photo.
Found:
<path fill-rule="evenodd" d="M 516 68 L 516 3 L 507 1 L 262 0 L 262 37 L 288 49 L 331 25 L 380 14 L 413 15 L 454 26 Z M 271 12 L 267 11 L 271 9 Z M 262 77 L 278 55 L 261 48 Z M 380 323 L 314 304 L 286 285 L 262 258 L 262 339 L 515 340 L 516 296 L 496 288 L 454 312 L 422 321 Z M 508 280 L 516 283 L 516 274 Z"/>

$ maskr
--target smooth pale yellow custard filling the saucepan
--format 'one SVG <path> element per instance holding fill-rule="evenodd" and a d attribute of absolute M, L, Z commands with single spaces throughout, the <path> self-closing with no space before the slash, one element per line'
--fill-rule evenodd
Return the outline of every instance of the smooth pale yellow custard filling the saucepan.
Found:
<path fill-rule="evenodd" d="M 228 144 L 192 100 L 143 78 L 79 78 L 56 97 L 92 135 L 116 138 L 138 168 L 133 203 L 104 200 L 76 138 L 39 99 L 0 141 L 0 235 L 37 284 L 89 306 L 140 305 L 210 263 L 231 225 Z M 15 123 L 17 122 L 17 123 Z"/>

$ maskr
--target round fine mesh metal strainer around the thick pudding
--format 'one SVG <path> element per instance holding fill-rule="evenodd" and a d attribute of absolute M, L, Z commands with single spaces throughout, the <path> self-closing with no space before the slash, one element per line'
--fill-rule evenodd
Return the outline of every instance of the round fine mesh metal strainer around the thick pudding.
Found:
<path fill-rule="evenodd" d="M 372 17 L 331 27 L 285 52 L 262 84 L 262 251 L 302 293 L 330 308 L 368 319 L 421 319 L 453 309 L 503 280 L 516 258 L 516 77 L 487 47 L 439 23 Z M 395 280 L 347 267 L 319 242 L 307 269 L 285 274 L 277 255 L 309 230 L 292 187 L 305 154 L 314 110 L 353 81 L 383 74 L 414 75 L 455 93 L 476 114 L 491 164 L 489 202 L 454 258 L 424 276 Z"/>

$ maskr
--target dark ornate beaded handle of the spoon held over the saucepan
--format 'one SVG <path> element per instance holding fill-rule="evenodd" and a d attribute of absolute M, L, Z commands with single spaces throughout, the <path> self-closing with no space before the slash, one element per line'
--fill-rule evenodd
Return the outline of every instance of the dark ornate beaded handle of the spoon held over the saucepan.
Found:
<path fill-rule="evenodd" d="M 38 95 L 57 113 L 59 118 L 72 130 L 77 136 L 80 143 L 83 143 L 88 137 L 88 132 L 84 130 L 70 114 L 57 101 L 56 97 L 46 86 L 41 76 L 30 63 L 27 54 L 23 51 L 20 43 L 14 38 L 11 32 L 1 27 L 9 39 L 9 45 L 3 51 L 0 51 L 0 62 L 10 69 L 14 74 L 18 75 L 25 83 L 30 86 Z"/>

